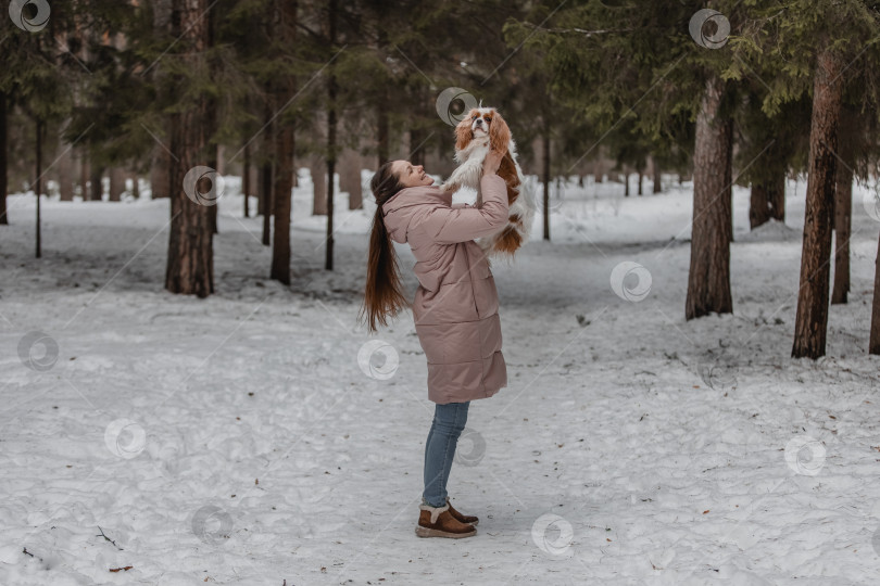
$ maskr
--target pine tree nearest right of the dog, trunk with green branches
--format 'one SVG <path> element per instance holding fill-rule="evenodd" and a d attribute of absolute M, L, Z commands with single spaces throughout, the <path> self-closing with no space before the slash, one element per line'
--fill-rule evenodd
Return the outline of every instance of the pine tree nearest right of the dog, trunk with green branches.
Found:
<path fill-rule="evenodd" d="M 689 34 L 696 3 L 602 3 L 566 7 L 533 31 L 527 46 L 543 47 L 554 87 L 573 110 L 582 109 L 604 136 L 632 120 L 649 144 L 668 153 L 693 151 L 694 213 L 691 270 L 686 317 L 732 310 L 730 187 L 732 127 L 737 104 L 733 81 L 741 72 L 732 65 L 733 50 L 700 47 Z M 740 23 L 744 10 L 737 2 L 716 2 L 725 21 Z M 696 33 L 701 33 L 697 30 Z M 702 37 L 697 37 L 697 40 Z M 705 44 L 705 43 L 704 43 Z M 671 148 L 669 132 L 682 115 L 695 120 L 695 144 Z M 623 135 L 621 135 L 623 136 Z M 643 167 L 653 149 L 637 152 L 629 165 Z M 628 183 L 627 183 L 628 184 Z"/>

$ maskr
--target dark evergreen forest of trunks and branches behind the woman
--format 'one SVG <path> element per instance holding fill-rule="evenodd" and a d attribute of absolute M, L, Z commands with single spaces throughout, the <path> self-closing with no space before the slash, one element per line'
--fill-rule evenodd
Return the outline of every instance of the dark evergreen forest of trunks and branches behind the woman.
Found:
<path fill-rule="evenodd" d="M 361 169 L 398 145 L 416 164 L 442 160 L 443 125 L 470 93 L 441 91 L 461 87 L 511 119 L 545 212 L 555 178 L 595 176 L 603 162 L 617 177 L 638 174 L 639 194 L 649 164 L 655 177 L 692 177 L 687 319 L 733 310 L 731 186 L 750 187 L 754 228 L 784 220 L 792 174 L 809 179 L 792 356 L 824 356 L 828 301 L 846 303 L 851 186 L 875 177 L 878 161 L 871 2 L 742 1 L 727 12 L 683 1 L 18 4 L 20 21 L 3 25 L 0 222 L 14 215 L 10 189 L 45 194 L 51 181 L 61 201 L 120 201 L 140 196 L 144 179 L 150 198 L 171 200 L 174 293 L 214 291 L 223 193 L 212 174 L 236 174 L 256 195 L 243 215 L 264 217 L 271 277 L 286 284 L 297 166 L 323 175 L 312 214 L 327 218 L 332 270 L 329 178 L 339 174 L 355 209 Z M 690 37 L 677 35 L 683 23 Z M 184 188 L 197 166 L 211 169 L 191 190 L 204 189 L 205 202 Z M 866 205 L 878 215 L 876 201 Z M 40 235 L 37 220 L 37 256 Z"/>

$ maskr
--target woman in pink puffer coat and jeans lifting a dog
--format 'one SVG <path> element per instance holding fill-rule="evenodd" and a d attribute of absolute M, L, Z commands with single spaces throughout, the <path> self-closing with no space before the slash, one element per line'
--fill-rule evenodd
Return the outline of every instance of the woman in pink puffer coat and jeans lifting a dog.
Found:
<path fill-rule="evenodd" d="M 416 334 L 428 359 L 428 398 L 436 403 L 425 444 L 425 489 L 416 535 L 470 537 L 476 517 L 449 502 L 447 481 L 473 399 L 507 386 L 501 354 L 498 291 L 475 238 L 507 224 L 507 190 L 495 175 L 502 155 L 490 152 L 482 168 L 482 207 L 452 205 L 452 193 L 432 186 L 422 165 L 386 163 L 373 176 L 376 216 L 369 240 L 364 307 L 369 331 L 410 307 L 398 269 L 394 242 L 408 243 L 416 257 L 418 289 L 412 304 Z"/>

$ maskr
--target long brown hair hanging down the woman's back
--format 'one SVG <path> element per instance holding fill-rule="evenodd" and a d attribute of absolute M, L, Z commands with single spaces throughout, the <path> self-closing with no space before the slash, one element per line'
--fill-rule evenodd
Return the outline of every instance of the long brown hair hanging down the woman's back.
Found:
<path fill-rule="evenodd" d="M 359 320 L 366 313 L 370 332 L 377 331 L 377 323 L 388 326 L 387 316 L 397 316 L 402 308 L 411 307 L 401 286 L 398 254 L 382 218 L 382 204 L 403 189 L 398 176 L 391 171 L 392 163 L 389 161 L 379 167 L 369 181 L 369 189 L 376 199 L 376 215 L 373 216 L 369 231 L 367 278 Z"/>

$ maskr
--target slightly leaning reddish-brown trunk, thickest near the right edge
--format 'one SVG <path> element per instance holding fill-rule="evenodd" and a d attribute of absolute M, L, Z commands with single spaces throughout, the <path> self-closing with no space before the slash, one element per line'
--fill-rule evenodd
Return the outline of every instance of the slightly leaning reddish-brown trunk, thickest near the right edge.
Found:
<path fill-rule="evenodd" d="M 840 59 L 819 51 L 813 86 L 809 166 L 801 253 L 801 285 L 794 324 L 794 358 L 825 356 L 828 329 L 828 280 L 831 254 L 831 206 L 837 170 L 838 124 L 842 86 Z"/>

